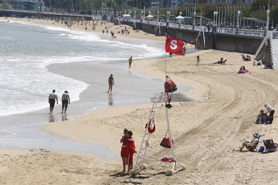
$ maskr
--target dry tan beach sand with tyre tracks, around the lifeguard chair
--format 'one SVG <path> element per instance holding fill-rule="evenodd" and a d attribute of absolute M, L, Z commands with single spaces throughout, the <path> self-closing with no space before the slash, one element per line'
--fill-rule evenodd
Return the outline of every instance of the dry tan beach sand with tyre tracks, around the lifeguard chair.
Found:
<path fill-rule="evenodd" d="M 27 19 L 8 20 L 28 22 Z M 65 27 L 56 23 L 53 25 L 53 21 L 31 22 Z M 107 23 L 96 27 L 94 32 L 101 33 L 105 26 L 109 27 L 109 32 L 119 30 L 116 29 L 119 26 Z M 91 31 L 91 26 L 87 27 L 87 32 Z M 85 31 L 85 26 L 75 24 L 71 29 Z M 165 37 L 130 30 L 129 35 L 116 36 L 165 42 Z M 221 185 L 254 184 L 254 180 L 277 184 L 277 153 L 261 154 L 246 152 L 246 149 L 239 152 L 239 146 L 245 140 L 251 141 L 254 132 L 264 134 L 257 149 L 263 146 L 266 138 L 278 142 L 276 113 L 272 124 L 255 124 L 259 110 L 266 112 L 265 103 L 274 109 L 277 107 L 278 77 L 276 71 L 252 66 L 254 55 L 251 55 L 252 61 L 243 61 L 238 56 L 240 54 L 204 50 L 185 57 L 167 58 L 167 75 L 176 83 L 196 88 L 187 93 L 193 102 L 172 103 L 173 108 L 168 109 L 175 156 L 179 164 L 185 164 L 185 170 L 166 176 L 170 164 L 146 161 L 147 169 L 136 176 L 120 173 L 123 168 L 120 158 L 123 130 L 127 128 L 133 131 L 136 150 L 139 151 L 152 106 L 149 103 L 98 109 L 84 116 L 75 116 L 72 121 L 48 123 L 44 127 L 46 131 L 75 141 L 107 146 L 118 154 L 117 160 L 103 161 L 89 154 L 54 153 L 43 149 L 0 150 L 0 184 Z M 200 55 L 199 66 L 196 66 L 197 55 Z M 227 59 L 225 65 L 212 64 L 221 57 Z M 241 66 L 251 73 L 237 74 Z M 164 80 L 165 59 L 134 61 L 131 70 Z M 159 145 L 167 131 L 164 106 L 157 108 L 154 119 L 156 131 L 151 135 L 151 146 L 147 153 L 171 157 L 171 150 Z M 137 154 L 134 154 L 134 164 L 136 158 Z"/>

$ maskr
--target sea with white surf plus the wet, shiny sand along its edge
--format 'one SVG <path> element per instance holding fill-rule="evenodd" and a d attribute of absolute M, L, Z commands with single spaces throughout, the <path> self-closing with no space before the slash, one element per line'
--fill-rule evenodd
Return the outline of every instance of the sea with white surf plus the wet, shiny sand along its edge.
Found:
<path fill-rule="evenodd" d="M 70 120 L 108 106 L 148 103 L 163 91 L 163 80 L 133 72 L 127 65 L 131 55 L 135 62 L 163 58 L 164 44 L 15 21 L 0 21 L 0 32 L 0 148 L 87 153 L 85 148 L 100 147 L 90 150 L 98 154 L 103 146 L 46 133 L 39 124 Z M 111 73 L 115 85 L 107 93 Z M 59 104 L 50 115 L 48 95 L 53 89 Z M 185 92 L 191 89 L 178 84 L 172 101 L 190 101 Z M 70 105 L 61 114 L 65 90 Z"/>

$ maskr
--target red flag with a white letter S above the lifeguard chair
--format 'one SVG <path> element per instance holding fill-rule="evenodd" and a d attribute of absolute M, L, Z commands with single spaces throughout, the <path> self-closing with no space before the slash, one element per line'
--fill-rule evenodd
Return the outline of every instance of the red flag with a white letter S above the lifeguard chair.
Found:
<path fill-rule="evenodd" d="M 184 43 L 182 41 L 167 35 L 165 51 L 172 54 L 183 55 L 183 45 Z"/>

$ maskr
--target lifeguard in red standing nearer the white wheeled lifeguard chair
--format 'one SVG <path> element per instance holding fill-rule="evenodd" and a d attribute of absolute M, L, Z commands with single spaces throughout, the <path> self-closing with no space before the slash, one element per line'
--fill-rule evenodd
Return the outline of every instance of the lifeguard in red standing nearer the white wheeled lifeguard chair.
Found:
<path fill-rule="evenodd" d="M 128 172 L 133 168 L 133 154 L 137 151 L 135 150 L 134 139 L 131 137 L 133 135 L 132 131 L 128 130 L 126 134 L 126 164 L 128 165 Z"/>

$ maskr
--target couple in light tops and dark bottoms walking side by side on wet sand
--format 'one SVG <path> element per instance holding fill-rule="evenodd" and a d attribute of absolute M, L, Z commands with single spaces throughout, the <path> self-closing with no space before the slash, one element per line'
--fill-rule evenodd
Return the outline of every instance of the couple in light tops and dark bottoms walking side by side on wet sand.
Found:
<path fill-rule="evenodd" d="M 49 114 L 52 114 L 52 112 L 53 112 L 54 105 L 55 105 L 55 99 L 58 104 L 58 96 L 55 93 L 55 89 L 53 89 L 52 93 L 50 93 L 48 96 L 48 103 L 50 105 Z M 66 113 L 68 104 L 70 104 L 70 95 L 69 95 L 68 91 L 65 91 L 64 94 L 62 95 L 62 113 L 64 112 L 64 108 L 65 108 L 64 113 Z"/>

